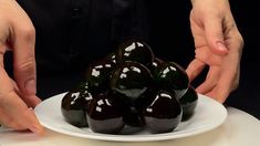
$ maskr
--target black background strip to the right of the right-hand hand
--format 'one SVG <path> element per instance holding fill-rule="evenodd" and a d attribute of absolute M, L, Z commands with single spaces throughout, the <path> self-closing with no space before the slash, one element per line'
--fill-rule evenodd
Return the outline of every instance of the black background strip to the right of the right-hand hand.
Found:
<path fill-rule="evenodd" d="M 231 8 L 237 25 L 245 40 L 241 60 L 241 79 L 239 88 L 227 103 L 245 109 L 260 118 L 260 70 L 259 70 L 259 20 L 258 4 L 252 1 L 231 0 Z"/>

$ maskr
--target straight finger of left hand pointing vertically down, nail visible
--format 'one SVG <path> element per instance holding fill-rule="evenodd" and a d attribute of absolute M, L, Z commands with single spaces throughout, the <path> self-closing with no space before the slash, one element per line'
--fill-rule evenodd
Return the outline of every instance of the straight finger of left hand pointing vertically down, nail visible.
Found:
<path fill-rule="evenodd" d="M 35 106 L 37 71 L 34 59 L 35 32 L 32 27 L 18 28 L 13 42 L 14 79 L 25 102 L 32 101 Z"/>

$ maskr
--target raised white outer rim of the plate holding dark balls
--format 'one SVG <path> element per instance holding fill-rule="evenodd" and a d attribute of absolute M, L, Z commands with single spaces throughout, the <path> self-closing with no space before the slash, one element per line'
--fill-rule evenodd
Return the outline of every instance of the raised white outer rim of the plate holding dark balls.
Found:
<path fill-rule="evenodd" d="M 39 111 L 38 111 L 39 108 L 41 108 L 41 106 L 43 106 L 43 104 L 45 104 L 54 98 L 58 98 L 58 97 L 61 100 L 62 96 L 64 96 L 66 93 L 67 92 L 60 93 L 60 94 L 53 95 L 53 96 L 42 101 L 39 105 L 35 106 L 34 113 L 38 116 L 40 123 L 44 127 L 46 127 L 53 132 L 60 133 L 60 134 L 65 134 L 69 136 L 75 136 L 75 137 L 82 137 L 82 138 L 91 138 L 91 139 L 97 139 L 97 140 L 110 140 L 110 142 L 152 142 L 152 140 L 166 140 L 166 139 L 184 138 L 184 137 L 190 137 L 194 135 L 198 135 L 198 134 L 202 134 L 202 133 L 212 131 L 212 129 L 219 127 L 227 119 L 227 116 L 228 116 L 227 108 L 221 103 L 219 103 L 219 102 L 215 101 L 214 98 L 208 97 L 206 95 L 198 94 L 198 97 L 199 97 L 198 102 L 201 102 L 201 100 L 208 100 L 209 102 L 212 102 L 212 104 L 216 104 L 217 106 L 219 106 L 222 109 L 221 111 L 222 118 L 219 119 L 219 122 L 217 124 L 215 124 L 214 126 L 211 126 L 210 128 L 202 128 L 200 131 L 194 131 L 188 134 L 180 133 L 177 135 L 176 135 L 177 132 L 163 133 L 163 134 L 152 134 L 152 135 L 113 135 L 113 134 L 100 134 L 100 133 L 79 134 L 79 133 L 67 132 L 65 129 L 58 129 L 58 127 L 50 126 L 49 124 L 46 124 L 44 122 L 44 119 L 42 121 L 41 114 L 39 114 Z M 198 103 L 198 105 L 199 105 L 199 103 Z M 174 134 L 174 135 L 170 135 L 170 134 Z"/>

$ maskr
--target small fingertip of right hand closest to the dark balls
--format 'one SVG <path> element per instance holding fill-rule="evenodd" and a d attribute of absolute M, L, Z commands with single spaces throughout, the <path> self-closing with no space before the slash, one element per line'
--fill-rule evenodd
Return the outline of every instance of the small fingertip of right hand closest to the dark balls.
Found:
<path fill-rule="evenodd" d="M 201 73 L 201 71 L 205 69 L 205 66 L 206 66 L 206 64 L 202 61 L 200 61 L 198 59 L 194 59 L 189 63 L 188 67 L 186 69 L 186 72 L 189 76 L 189 81 L 190 82 L 194 81 L 194 79 L 197 77 Z"/>

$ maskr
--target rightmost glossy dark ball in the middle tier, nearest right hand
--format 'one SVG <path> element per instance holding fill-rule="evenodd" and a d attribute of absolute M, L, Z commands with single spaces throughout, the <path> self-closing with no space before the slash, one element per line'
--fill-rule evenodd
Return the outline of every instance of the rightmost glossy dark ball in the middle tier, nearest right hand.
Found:
<path fill-rule="evenodd" d="M 163 63 L 155 76 L 156 84 L 164 90 L 174 91 L 177 98 L 180 98 L 189 86 L 189 79 L 186 71 L 175 62 Z"/>

